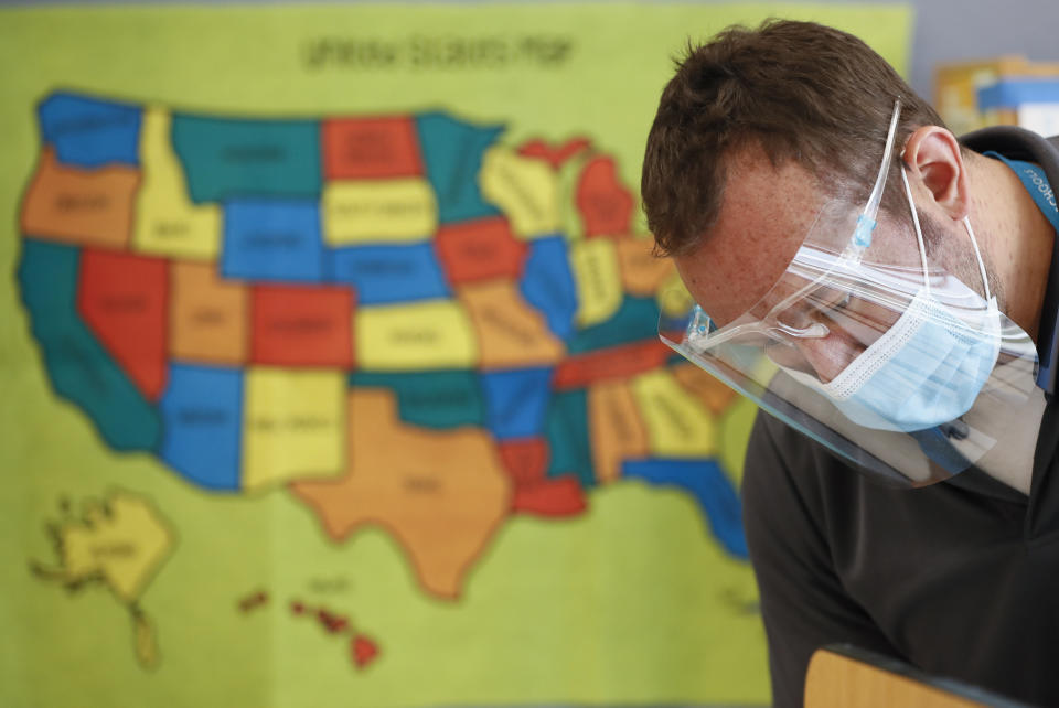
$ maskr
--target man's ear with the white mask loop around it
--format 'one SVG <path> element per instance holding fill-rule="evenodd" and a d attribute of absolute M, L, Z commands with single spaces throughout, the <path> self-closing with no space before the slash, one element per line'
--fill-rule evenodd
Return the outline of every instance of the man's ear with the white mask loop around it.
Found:
<path fill-rule="evenodd" d="M 922 183 L 950 218 L 967 215 L 967 171 L 955 136 L 940 126 L 922 126 L 905 143 L 902 159 L 913 187 Z"/>

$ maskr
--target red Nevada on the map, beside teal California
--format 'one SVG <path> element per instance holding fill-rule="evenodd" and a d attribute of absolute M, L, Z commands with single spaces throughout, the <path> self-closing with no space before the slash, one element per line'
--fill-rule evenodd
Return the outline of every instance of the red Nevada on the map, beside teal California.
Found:
<path fill-rule="evenodd" d="M 168 372 L 169 264 L 83 249 L 77 311 L 140 393 L 157 400 Z"/>

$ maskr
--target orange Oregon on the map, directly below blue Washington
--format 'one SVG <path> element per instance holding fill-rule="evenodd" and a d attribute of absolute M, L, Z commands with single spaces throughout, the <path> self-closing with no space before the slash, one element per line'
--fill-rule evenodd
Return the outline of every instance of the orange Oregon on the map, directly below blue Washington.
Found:
<path fill-rule="evenodd" d="M 84 246 L 125 248 L 132 238 L 140 171 L 128 165 L 83 170 L 60 164 L 45 147 L 22 201 L 23 234 Z"/>

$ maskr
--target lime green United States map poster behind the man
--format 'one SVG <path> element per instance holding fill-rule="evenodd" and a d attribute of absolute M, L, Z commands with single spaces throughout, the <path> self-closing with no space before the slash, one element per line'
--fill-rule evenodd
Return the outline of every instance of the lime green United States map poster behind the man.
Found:
<path fill-rule="evenodd" d="M 638 172 L 777 10 L 0 13 L 0 702 L 766 702 L 755 411 Z"/>

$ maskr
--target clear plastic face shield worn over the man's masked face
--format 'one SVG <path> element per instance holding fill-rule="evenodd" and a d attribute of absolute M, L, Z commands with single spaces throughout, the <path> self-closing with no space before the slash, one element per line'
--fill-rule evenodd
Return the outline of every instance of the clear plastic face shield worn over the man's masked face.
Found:
<path fill-rule="evenodd" d="M 899 115 L 897 101 L 867 205 L 825 204 L 736 320 L 718 326 L 695 305 L 663 315 L 660 334 L 855 465 L 921 486 L 1003 457 L 991 453 L 1035 390 L 1037 352 L 997 308 L 967 219 L 962 238 L 924 242 L 903 165 L 907 225 L 876 228 Z"/>

